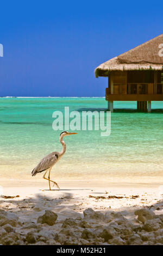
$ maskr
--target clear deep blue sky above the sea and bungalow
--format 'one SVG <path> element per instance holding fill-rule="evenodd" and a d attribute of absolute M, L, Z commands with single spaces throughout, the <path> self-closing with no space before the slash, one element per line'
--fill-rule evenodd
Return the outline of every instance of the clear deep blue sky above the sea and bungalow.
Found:
<path fill-rule="evenodd" d="M 162 34 L 161 1 L 3 1 L 0 96 L 104 96 L 95 68 Z"/>

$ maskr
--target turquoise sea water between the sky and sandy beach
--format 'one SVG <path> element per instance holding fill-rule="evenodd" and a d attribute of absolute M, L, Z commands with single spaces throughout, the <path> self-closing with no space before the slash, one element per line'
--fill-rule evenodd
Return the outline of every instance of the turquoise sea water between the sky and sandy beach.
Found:
<path fill-rule="evenodd" d="M 1 179 L 33 179 L 31 171 L 42 157 L 61 150 L 52 114 L 65 106 L 80 113 L 104 111 L 107 102 L 103 97 L 0 99 Z M 53 167 L 55 179 L 163 181 L 163 103 L 152 102 L 152 113 L 137 112 L 136 102 L 114 102 L 114 109 L 110 136 L 93 130 L 65 138 L 67 151 Z"/>

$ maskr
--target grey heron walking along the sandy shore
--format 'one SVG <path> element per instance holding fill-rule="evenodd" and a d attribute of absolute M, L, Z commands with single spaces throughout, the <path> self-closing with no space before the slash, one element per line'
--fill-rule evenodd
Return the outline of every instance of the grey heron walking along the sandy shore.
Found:
<path fill-rule="evenodd" d="M 78 133 L 77 132 L 68 132 L 68 131 L 61 132 L 59 141 L 62 144 L 62 150 L 60 152 L 52 152 L 52 153 L 48 154 L 47 156 L 43 157 L 43 159 L 41 159 L 41 161 L 37 164 L 37 166 L 32 171 L 32 176 L 35 176 L 37 173 L 45 172 L 45 174 L 43 175 L 43 179 L 48 180 L 49 190 L 51 190 L 50 182 L 53 182 L 53 186 L 56 185 L 57 188 L 60 189 L 58 184 L 55 181 L 50 179 L 51 169 L 54 166 L 54 164 L 57 163 L 61 159 L 61 157 L 65 154 L 66 143 L 63 141 L 63 138 L 65 136 L 69 136 L 69 135 L 73 135 L 73 134 L 78 134 Z M 45 178 L 45 175 L 48 171 L 49 171 L 48 178 Z"/>

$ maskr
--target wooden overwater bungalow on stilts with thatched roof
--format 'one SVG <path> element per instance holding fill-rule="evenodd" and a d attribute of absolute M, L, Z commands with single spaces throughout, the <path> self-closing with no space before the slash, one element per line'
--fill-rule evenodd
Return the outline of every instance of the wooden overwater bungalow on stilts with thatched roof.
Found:
<path fill-rule="evenodd" d="M 163 101 L 163 34 L 104 62 L 96 77 L 108 77 L 105 99 L 137 101 L 137 109 L 151 112 L 151 101 Z"/>

